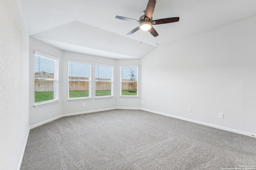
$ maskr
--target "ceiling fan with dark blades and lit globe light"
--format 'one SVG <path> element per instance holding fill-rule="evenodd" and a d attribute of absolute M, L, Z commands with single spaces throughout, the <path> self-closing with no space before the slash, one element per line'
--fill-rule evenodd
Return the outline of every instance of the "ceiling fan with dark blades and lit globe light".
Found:
<path fill-rule="evenodd" d="M 143 12 L 143 16 L 141 16 L 139 18 L 139 20 L 134 20 L 134 19 L 131 19 L 131 18 L 116 16 L 117 19 L 136 22 L 136 23 L 140 24 L 138 27 L 134 28 L 132 31 L 130 31 L 126 35 L 131 35 L 131 34 L 135 33 L 136 31 L 138 31 L 139 29 L 142 29 L 144 31 L 149 31 L 154 37 L 156 37 L 156 36 L 158 36 L 158 33 L 152 27 L 152 25 L 178 22 L 180 20 L 179 17 L 153 20 L 152 14 L 154 12 L 155 6 L 156 6 L 156 0 L 149 0 L 146 11 Z"/>

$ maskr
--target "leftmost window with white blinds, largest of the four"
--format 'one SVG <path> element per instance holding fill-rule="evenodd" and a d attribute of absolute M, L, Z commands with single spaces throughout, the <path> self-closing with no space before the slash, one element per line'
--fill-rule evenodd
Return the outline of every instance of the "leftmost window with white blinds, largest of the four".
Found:
<path fill-rule="evenodd" d="M 59 100 L 59 59 L 35 52 L 35 104 Z"/>

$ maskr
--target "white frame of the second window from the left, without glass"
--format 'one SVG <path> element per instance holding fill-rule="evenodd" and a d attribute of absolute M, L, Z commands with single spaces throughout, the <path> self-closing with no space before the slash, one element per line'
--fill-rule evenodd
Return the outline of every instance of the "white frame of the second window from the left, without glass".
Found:
<path fill-rule="evenodd" d="M 89 82 L 89 96 L 88 97 L 82 97 L 82 98 L 70 98 L 69 97 L 69 68 L 68 68 L 68 101 L 77 101 L 77 100 L 90 100 L 92 99 L 92 63 L 87 63 L 83 61 L 74 61 L 74 60 L 68 60 L 69 63 L 79 63 L 79 64 L 88 64 L 89 65 L 89 80 L 78 80 L 78 81 L 85 81 Z"/>

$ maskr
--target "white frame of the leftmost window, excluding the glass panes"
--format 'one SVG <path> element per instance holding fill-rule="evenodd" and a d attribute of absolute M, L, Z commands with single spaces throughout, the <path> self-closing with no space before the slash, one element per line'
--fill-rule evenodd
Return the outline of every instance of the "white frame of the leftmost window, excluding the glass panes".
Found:
<path fill-rule="evenodd" d="M 42 102 L 35 102 L 34 101 L 34 107 L 41 107 L 41 106 L 46 106 L 49 104 L 55 104 L 60 102 L 59 100 L 59 61 L 60 59 L 57 57 L 53 57 L 51 55 L 47 55 L 38 51 L 34 51 L 34 57 L 36 57 L 36 55 L 40 56 L 40 57 L 44 57 L 44 58 L 48 58 L 48 59 L 52 59 L 54 60 L 54 78 L 34 78 L 34 80 L 51 80 L 54 81 L 54 99 L 53 100 L 47 100 L 47 101 L 42 101 Z M 34 63 L 36 61 L 34 60 Z M 35 70 L 34 70 L 35 72 Z M 36 89 L 34 89 L 35 92 Z M 34 95 L 35 97 L 35 95 Z"/>

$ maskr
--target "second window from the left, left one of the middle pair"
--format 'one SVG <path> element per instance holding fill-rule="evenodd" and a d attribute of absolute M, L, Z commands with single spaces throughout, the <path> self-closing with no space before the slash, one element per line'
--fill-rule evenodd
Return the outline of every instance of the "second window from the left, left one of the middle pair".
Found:
<path fill-rule="evenodd" d="M 68 61 L 68 98 L 91 97 L 91 63 Z"/>

